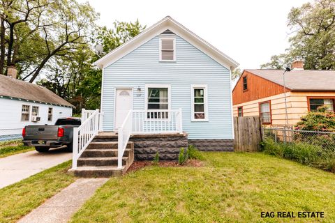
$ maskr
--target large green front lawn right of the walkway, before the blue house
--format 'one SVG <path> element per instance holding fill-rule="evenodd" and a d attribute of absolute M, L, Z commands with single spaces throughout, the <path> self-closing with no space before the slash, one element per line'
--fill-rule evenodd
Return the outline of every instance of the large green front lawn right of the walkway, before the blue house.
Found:
<path fill-rule="evenodd" d="M 335 175 L 262 153 L 204 153 L 204 167 L 146 167 L 111 178 L 71 222 L 290 222 L 261 211 L 324 211 Z"/>

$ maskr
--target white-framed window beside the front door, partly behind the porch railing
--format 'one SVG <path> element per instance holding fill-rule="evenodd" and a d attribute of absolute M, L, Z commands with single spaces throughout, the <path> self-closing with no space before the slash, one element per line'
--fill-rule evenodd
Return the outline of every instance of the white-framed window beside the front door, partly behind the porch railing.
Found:
<path fill-rule="evenodd" d="M 146 85 L 147 118 L 168 118 L 170 109 L 170 85 Z"/>

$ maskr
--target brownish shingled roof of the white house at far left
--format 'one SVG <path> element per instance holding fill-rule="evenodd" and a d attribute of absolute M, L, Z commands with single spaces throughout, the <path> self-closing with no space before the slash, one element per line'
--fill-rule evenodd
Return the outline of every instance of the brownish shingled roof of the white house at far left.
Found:
<path fill-rule="evenodd" d="M 0 75 L 0 98 L 3 97 L 74 107 L 69 102 L 59 97 L 59 95 L 43 86 Z"/>

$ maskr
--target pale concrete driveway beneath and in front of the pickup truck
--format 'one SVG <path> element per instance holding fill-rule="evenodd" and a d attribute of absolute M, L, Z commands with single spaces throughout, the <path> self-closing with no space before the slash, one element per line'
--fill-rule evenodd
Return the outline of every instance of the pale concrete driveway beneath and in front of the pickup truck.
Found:
<path fill-rule="evenodd" d="M 0 158 L 0 188 L 66 162 L 71 158 L 72 153 L 67 153 L 64 148 L 51 149 L 47 153 L 30 151 Z"/>

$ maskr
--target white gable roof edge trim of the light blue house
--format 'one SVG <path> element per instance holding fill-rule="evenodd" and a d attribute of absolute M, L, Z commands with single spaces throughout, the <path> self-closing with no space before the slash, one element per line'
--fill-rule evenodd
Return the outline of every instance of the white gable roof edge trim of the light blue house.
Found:
<path fill-rule="evenodd" d="M 109 52 L 101 59 L 96 61 L 95 64 L 99 68 L 105 68 L 106 66 L 109 66 L 115 61 L 121 59 L 126 54 L 132 52 L 137 47 L 140 47 L 140 45 L 143 45 L 147 41 L 151 40 L 151 38 L 154 38 L 155 36 L 158 36 L 167 30 L 172 33 L 176 33 L 181 38 L 184 38 L 184 40 L 186 40 L 188 43 L 191 43 L 191 45 L 200 49 L 202 52 L 204 52 L 204 54 L 207 54 L 216 62 L 220 63 L 222 66 L 225 66 L 225 68 L 234 70 L 234 68 L 239 66 L 239 63 L 231 59 L 226 54 L 223 54 L 223 52 L 216 49 L 216 47 L 210 45 L 199 36 L 195 35 L 195 33 L 181 25 L 176 20 L 172 19 L 170 16 L 165 17 L 163 20 L 145 29 L 142 31 L 142 33 L 138 34 L 128 42 L 112 50 L 112 52 Z"/>

